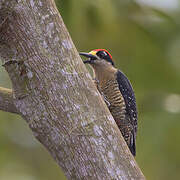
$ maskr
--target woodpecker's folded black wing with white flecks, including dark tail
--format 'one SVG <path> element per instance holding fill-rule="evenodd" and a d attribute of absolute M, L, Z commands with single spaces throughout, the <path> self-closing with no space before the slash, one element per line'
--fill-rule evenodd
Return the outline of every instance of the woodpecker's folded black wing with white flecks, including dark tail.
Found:
<path fill-rule="evenodd" d="M 137 132 L 137 108 L 136 99 L 133 88 L 128 78 L 120 71 L 117 71 L 117 82 L 119 90 L 124 98 L 126 104 L 126 116 L 128 116 L 129 123 L 132 125 L 129 148 L 132 154 L 136 154 L 136 132 Z"/>

